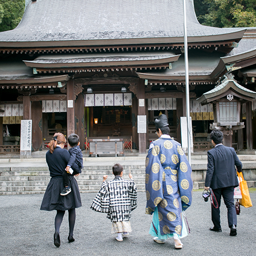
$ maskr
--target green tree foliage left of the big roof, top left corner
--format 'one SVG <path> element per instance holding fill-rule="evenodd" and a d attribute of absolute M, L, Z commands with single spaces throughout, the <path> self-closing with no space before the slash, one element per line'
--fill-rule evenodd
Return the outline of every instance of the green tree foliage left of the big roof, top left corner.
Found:
<path fill-rule="evenodd" d="M 25 9 L 25 0 L 0 0 L 0 31 L 17 27 Z"/>

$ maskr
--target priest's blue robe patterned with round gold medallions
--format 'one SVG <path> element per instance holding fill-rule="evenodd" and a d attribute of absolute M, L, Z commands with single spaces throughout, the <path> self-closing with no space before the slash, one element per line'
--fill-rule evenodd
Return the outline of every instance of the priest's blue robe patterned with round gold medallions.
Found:
<path fill-rule="evenodd" d="M 160 233 L 181 234 L 182 210 L 192 202 L 191 166 L 180 143 L 159 138 L 146 157 L 146 214 L 158 208 Z"/>

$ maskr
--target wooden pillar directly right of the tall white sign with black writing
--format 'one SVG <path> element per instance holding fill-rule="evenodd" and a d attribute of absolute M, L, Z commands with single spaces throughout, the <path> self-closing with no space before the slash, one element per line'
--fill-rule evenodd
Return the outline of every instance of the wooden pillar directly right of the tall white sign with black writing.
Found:
<path fill-rule="evenodd" d="M 32 151 L 42 150 L 42 105 L 40 101 L 31 103 Z"/>

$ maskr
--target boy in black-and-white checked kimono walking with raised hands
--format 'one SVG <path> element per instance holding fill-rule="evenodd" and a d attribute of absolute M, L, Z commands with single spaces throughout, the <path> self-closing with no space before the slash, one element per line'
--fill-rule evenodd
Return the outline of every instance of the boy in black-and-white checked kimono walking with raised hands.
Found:
<path fill-rule="evenodd" d="M 117 241 L 129 236 L 131 212 L 137 207 L 137 188 L 130 173 L 130 180 L 123 180 L 123 166 L 119 163 L 113 167 L 114 180 L 106 182 L 108 175 L 103 176 L 101 188 L 91 204 L 91 209 L 108 213 L 112 222 L 112 233 L 118 233 Z"/>

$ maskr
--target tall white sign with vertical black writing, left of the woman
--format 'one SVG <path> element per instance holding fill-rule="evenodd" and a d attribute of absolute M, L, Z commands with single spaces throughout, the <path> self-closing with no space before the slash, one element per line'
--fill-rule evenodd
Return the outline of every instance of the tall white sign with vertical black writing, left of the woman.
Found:
<path fill-rule="evenodd" d="M 32 120 L 22 120 L 20 124 L 20 151 L 31 151 Z"/>

